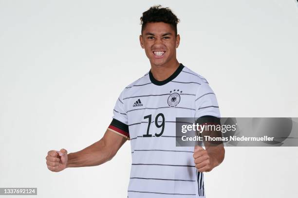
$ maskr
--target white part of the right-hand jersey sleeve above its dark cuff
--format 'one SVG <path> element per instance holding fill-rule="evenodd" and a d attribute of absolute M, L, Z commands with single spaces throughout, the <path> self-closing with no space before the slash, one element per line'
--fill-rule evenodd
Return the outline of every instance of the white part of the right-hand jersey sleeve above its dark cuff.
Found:
<path fill-rule="evenodd" d="M 208 83 L 202 83 L 196 93 L 195 117 L 214 116 L 221 117 L 216 96 Z"/>

